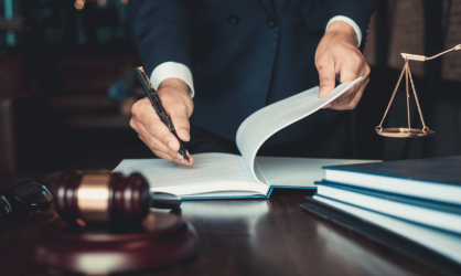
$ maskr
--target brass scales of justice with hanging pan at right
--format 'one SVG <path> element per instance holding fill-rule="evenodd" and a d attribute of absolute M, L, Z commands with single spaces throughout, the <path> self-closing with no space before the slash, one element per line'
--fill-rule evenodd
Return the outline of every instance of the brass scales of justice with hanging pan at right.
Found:
<path fill-rule="evenodd" d="M 425 62 L 425 61 L 429 61 L 429 60 L 433 60 L 442 54 L 446 54 L 448 52 L 451 51 L 458 51 L 461 50 L 461 44 L 455 45 L 454 47 L 447 50 L 440 54 L 437 54 L 435 56 L 431 57 L 426 57 L 424 55 L 415 55 L 415 54 L 405 54 L 401 53 L 401 56 L 405 60 L 405 65 L 404 65 L 404 70 L 401 71 L 400 77 L 398 78 L 397 82 L 397 86 L 394 89 L 393 96 L 390 97 L 390 102 L 389 105 L 387 105 L 387 109 L 384 113 L 384 117 L 380 120 L 379 126 L 376 127 L 376 132 L 380 136 L 386 136 L 386 137 L 394 137 L 394 138 L 422 138 L 422 137 L 429 137 L 432 136 L 435 134 L 433 130 L 430 130 L 429 127 L 426 126 L 425 123 L 425 118 L 422 117 L 422 112 L 421 112 L 421 107 L 419 106 L 419 102 L 418 102 L 418 96 L 416 95 L 416 89 L 415 89 L 415 85 L 412 82 L 412 77 L 411 77 L 411 72 L 410 72 L 410 66 L 408 64 L 408 61 L 420 61 L 420 62 Z M 387 116 L 387 113 L 389 112 L 390 105 L 393 104 L 394 97 L 397 93 L 398 86 L 400 85 L 401 82 L 401 77 L 404 76 L 405 73 L 405 79 L 406 79 L 406 91 L 407 91 L 407 114 L 408 114 L 408 128 L 406 127 L 398 127 L 398 128 L 383 128 L 383 121 Z M 409 99 L 410 99 L 410 93 L 408 89 L 408 76 L 410 78 L 410 83 L 411 83 L 411 88 L 412 92 L 415 94 L 415 100 L 416 104 L 418 106 L 418 112 L 419 112 L 419 117 L 421 118 L 421 123 L 422 123 L 422 128 L 411 128 L 410 126 L 410 104 L 409 104 Z"/>

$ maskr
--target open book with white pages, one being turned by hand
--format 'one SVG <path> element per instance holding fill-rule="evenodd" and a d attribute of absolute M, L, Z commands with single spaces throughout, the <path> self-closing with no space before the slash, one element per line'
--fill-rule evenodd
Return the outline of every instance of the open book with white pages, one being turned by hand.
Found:
<path fill-rule="evenodd" d="M 334 100 L 362 77 L 339 85 L 319 98 L 319 87 L 266 106 L 250 115 L 237 130 L 242 156 L 194 155 L 194 164 L 164 159 L 126 159 L 114 172 L 142 173 L 152 191 L 178 194 L 183 200 L 223 198 L 268 198 L 274 188 L 313 188 L 324 178 L 323 166 L 360 160 L 256 157 L 262 144 L 280 129 L 311 115 Z"/>

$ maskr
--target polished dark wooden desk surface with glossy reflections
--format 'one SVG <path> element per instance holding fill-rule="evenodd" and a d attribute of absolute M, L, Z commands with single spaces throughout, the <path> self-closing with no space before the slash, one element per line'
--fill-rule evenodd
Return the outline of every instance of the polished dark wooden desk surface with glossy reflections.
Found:
<path fill-rule="evenodd" d="M 60 173 L 0 174 L 0 192 L 23 181 L 52 183 Z M 331 223 L 299 204 L 302 194 L 270 200 L 189 201 L 182 216 L 200 236 L 200 256 L 130 275 L 437 275 L 424 264 Z M 47 275 L 30 261 L 50 211 L 0 223 L 0 275 Z"/>

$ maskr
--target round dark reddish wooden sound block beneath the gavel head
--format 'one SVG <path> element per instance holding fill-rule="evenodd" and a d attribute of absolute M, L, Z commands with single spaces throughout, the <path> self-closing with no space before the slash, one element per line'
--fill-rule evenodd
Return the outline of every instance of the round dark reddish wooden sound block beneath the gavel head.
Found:
<path fill-rule="evenodd" d="M 150 212 L 131 227 L 57 221 L 40 233 L 35 264 L 60 272 L 107 275 L 173 265 L 197 254 L 193 226 L 178 215 Z"/>

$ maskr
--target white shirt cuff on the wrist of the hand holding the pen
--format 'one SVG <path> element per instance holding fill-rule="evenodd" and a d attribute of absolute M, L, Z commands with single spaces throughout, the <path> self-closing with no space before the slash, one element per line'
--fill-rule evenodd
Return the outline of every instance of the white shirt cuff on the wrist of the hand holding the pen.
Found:
<path fill-rule="evenodd" d="M 194 82 L 192 79 L 192 72 L 182 63 L 176 62 L 164 62 L 157 66 L 150 75 L 150 82 L 156 91 L 159 85 L 167 78 L 175 77 L 184 81 L 189 85 L 189 94 L 191 98 L 194 97 Z"/>

